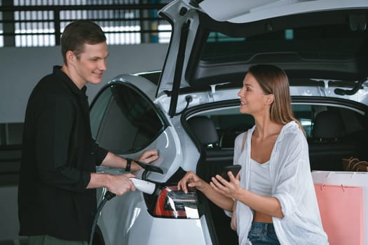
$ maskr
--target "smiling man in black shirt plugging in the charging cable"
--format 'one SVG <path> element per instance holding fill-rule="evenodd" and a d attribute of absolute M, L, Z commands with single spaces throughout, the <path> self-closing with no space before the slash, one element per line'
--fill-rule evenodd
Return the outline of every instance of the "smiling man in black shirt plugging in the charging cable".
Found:
<path fill-rule="evenodd" d="M 20 235 L 29 244 L 87 244 L 96 213 L 96 190 L 135 190 L 125 174 L 96 174 L 96 165 L 141 167 L 100 148 L 92 138 L 86 84 L 107 70 L 106 36 L 93 22 L 69 24 L 61 38 L 63 66 L 34 87 L 25 115 L 18 191 Z M 156 150 L 138 159 L 151 162 Z"/>

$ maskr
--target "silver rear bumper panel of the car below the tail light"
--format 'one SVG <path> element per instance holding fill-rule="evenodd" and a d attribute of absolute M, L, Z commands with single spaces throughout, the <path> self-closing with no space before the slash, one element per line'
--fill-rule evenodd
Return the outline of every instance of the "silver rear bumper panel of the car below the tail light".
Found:
<path fill-rule="evenodd" d="M 147 212 L 143 199 L 136 190 L 107 202 L 99 221 L 106 245 L 211 244 L 204 217 L 155 218 Z"/>

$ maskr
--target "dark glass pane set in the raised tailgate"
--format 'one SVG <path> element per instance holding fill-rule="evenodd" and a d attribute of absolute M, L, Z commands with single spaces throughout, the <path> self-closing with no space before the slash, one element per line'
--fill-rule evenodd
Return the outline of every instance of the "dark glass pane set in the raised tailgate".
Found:
<path fill-rule="evenodd" d="M 297 53 L 306 59 L 318 52 L 318 57 L 346 59 L 362 48 L 365 36 L 364 31 L 351 30 L 348 23 L 280 29 L 242 37 L 211 31 L 200 59 L 211 63 L 248 61 L 257 54 L 270 52 Z"/>

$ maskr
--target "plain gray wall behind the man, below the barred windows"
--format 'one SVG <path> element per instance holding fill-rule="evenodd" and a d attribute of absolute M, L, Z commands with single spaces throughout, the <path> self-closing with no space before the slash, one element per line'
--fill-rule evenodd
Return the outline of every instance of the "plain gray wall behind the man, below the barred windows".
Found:
<path fill-rule="evenodd" d="M 168 44 L 110 45 L 100 85 L 88 85 L 92 101 L 100 87 L 122 73 L 162 69 Z M 0 123 L 22 123 L 29 94 L 40 78 L 62 65 L 60 47 L 0 48 Z"/>

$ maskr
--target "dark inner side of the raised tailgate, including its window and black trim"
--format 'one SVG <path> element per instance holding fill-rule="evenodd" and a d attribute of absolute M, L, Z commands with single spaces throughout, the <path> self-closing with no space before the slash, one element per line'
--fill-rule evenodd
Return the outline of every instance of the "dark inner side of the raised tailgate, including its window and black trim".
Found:
<path fill-rule="evenodd" d="M 210 22 L 196 36 L 186 78 L 191 87 L 239 83 L 252 64 L 275 64 L 289 78 L 367 78 L 367 13 L 285 16 L 245 24 Z"/>

